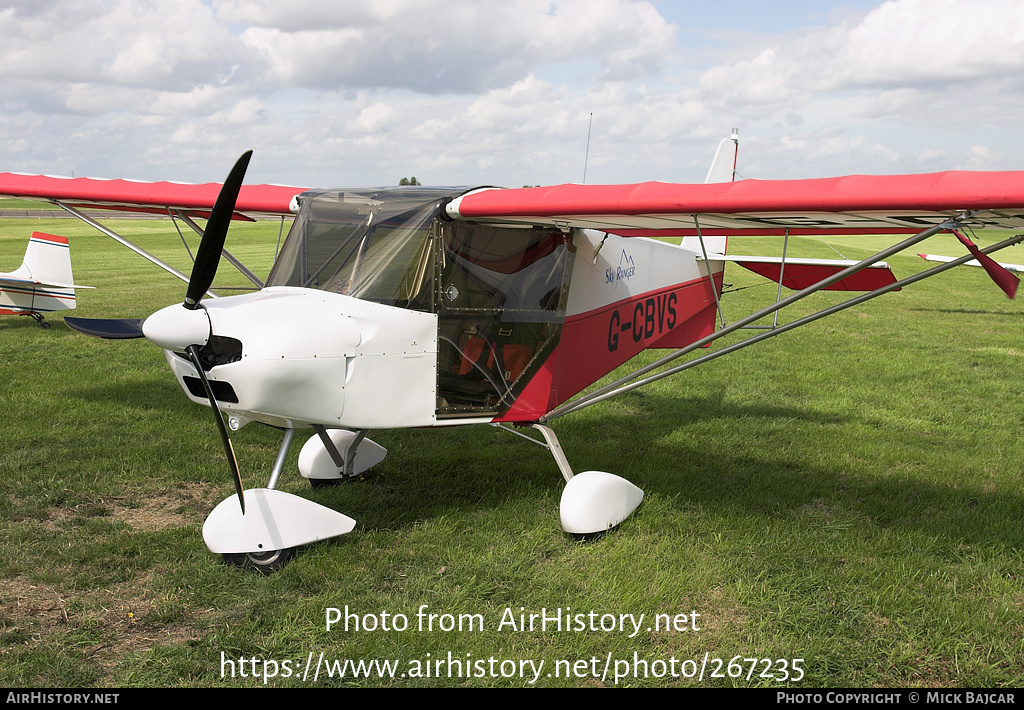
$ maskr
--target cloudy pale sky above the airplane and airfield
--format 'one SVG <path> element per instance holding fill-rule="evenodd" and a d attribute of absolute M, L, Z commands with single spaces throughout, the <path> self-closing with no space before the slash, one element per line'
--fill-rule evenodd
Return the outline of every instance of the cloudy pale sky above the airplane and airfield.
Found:
<path fill-rule="evenodd" d="M 0 0 L 0 171 L 700 182 L 1024 169 L 1024 0 Z"/>

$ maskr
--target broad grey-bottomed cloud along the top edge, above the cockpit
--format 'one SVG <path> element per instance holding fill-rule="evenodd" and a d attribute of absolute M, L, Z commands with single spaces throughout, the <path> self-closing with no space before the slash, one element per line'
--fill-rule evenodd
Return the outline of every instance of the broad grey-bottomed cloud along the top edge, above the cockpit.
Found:
<path fill-rule="evenodd" d="M 627 0 L 503 3 L 222 3 L 252 22 L 242 38 L 289 85 L 476 92 L 537 67 L 586 58 L 610 80 L 654 71 L 675 28 L 653 6 Z M 350 10 L 350 11 L 349 11 Z"/>

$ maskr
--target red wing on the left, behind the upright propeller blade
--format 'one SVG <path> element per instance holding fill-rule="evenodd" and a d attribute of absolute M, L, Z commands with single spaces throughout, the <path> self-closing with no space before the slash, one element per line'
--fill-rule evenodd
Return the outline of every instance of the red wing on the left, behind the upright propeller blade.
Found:
<path fill-rule="evenodd" d="M 291 214 L 292 198 L 304 190 L 272 184 L 244 185 L 234 210 L 242 214 Z M 220 184 L 216 182 L 136 182 L 0 173 L 0 195 L 58 200 L 73 207 L 160 213 L 175 209 L 190 216 L 205 217 L 219 192 Z"/>

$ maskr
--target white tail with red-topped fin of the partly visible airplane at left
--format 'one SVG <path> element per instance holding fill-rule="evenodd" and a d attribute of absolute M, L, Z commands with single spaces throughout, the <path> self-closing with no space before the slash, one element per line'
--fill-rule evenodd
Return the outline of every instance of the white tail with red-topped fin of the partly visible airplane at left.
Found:
<path fill-rule="evenodd" d="M 77 288 L 92 287 L 75 285 L 68 238 L 33 232 L 22 265 L 0 274 L 0 316 L 28 316 L 49 328 L 43 314 L 74 308 Z"/>

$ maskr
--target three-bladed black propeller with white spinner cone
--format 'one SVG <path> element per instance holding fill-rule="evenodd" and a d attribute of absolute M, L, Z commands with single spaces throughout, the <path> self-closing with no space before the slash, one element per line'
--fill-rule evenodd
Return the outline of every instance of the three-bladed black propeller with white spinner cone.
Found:
<path fill-rule="evenodd" d="M 213 279 L 217 276 L 220 253 L 224 249 L 227 227 L 231 223 L 234 203 L 239 199 L 239 191 L 242 189 L 242 181 L 245 178 L 246 169 L 249 167 L 250 158 L 252 158 L 252 151 L 246 151 L 234 163 L 234 167 L 227 174 L 227 179 L 224 180 L 220 194 L 217 195 L 217 201 L 210 211 L 206 229 L 203 232 L 203 240 L 196 252 L 196 262 L 193 264 L 191 275 L 188 278 L 185 300 L 181 304 L 184 306 L 184 310 L 179 306 L 162 308 L 144 321 L 137 319 L 65 319 L 65 323 L 70 328 L 86 335 L 100 338 L 145 337 L 165 349 L 184 351 L 188 356 L 203 382 L 207 399 L 210 401 L 210 409 L 213 410 L 213 417 L 217 423 L 217 429 L 220 431 L 224 453 L 227 455 L 227 465 L 231 469 L 231 477 L 234 481 L 234 490 L 239 495 L 239 505 L 242 506 L 243 514 L 246 512 L 246 500 L 242 493 L 239 462 L 234 458 L 234 449 L 227 435 L 224 416 L 220 413 L 220 407 L 217 405 L 213 387 L 206 376 L 206 370 L 203 368 L 200 356 L 200 348 L 209 342 L 213 334 L 210 318 L 200 301 L 210 290 Z"/>

